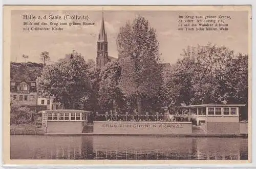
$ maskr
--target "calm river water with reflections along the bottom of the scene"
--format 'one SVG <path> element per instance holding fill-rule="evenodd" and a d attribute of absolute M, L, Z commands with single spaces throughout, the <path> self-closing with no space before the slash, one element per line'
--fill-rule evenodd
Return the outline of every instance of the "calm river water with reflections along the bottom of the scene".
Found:
<path fill-rule="evenodd" d="M 248 159 L 247 138 L 12 135 L 11 159 Z"/>

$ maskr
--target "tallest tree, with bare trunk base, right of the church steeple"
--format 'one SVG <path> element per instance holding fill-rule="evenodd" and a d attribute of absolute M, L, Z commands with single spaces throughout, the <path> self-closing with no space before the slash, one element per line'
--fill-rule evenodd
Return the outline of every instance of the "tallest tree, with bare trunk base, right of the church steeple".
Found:
<path fill-rule="evenodd" d="M 138 113 L 144 98 L 157 94 L 162 85 L 162 67 L 156 31 L 144 17 L 120 28 L 117 49 L 122 67 L 119 88 L 125 97 L 137 99 Z"/>

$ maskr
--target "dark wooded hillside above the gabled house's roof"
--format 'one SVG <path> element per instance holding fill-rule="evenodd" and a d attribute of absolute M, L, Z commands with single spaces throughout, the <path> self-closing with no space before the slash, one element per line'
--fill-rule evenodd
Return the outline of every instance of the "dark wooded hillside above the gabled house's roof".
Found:
<path fill-rule="evenodd" d="M 11 63 L 11 80 L 30 80 L 35 79 L 41 75 L 44 64 L 38 63 Z"/>

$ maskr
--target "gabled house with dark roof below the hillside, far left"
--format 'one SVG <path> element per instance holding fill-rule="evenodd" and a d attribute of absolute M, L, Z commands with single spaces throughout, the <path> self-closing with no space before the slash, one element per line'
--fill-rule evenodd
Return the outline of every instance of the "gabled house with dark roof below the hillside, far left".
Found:
<path fill-rule="evenodd" d="M 20 105 L 37 105 L 35 81 L 11 80 L 10 88 L 11 100 L 17 100 Z"/>

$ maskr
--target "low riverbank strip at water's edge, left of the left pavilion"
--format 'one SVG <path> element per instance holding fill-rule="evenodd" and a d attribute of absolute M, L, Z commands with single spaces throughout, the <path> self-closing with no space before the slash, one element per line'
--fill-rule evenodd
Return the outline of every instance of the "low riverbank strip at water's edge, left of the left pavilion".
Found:
<path fill-rule="evenodd" d="M 37 125 L 11 125 L 11 135 L 44 135 L 42 126 Z"/>

